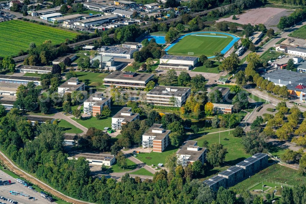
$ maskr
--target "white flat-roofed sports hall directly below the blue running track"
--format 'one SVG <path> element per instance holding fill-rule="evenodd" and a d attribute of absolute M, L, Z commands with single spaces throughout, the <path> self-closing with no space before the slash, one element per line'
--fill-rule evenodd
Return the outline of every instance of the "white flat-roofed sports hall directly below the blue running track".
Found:
<path fill-rule="evenodd" d="M 168 70 L 190 70 L 196 63 L 198 63 L 197 57 L 190 56 L 178 56 L 178 55 L 163 55 L 159 59 L 159 69 Z"/>

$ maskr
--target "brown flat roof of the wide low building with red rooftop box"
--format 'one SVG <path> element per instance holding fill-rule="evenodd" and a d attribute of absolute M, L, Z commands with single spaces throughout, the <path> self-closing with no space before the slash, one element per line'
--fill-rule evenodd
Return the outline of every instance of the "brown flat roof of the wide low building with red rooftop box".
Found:
<path fill-rule="evenodd" d="M 107 75 L 103 80 L 107 81 L 107 80 L 116 80 L 116 79 L 120 79 L 120 80 L 126 80 L 126 81 L 143 81 L 146 82 L 147 80 L 151 79 L 154 74 L 144 74 L 144 73 L 136 73 L 134 75 L 134 77 L 125 77 L 123 76 L 124 74 L 126 74 L 126 72 L 117 72 L 114 71 L 112 73 L 110 73 L 109 75 Z M 129 72 L 127 72 L 127 74 L 129 74 Z"/>

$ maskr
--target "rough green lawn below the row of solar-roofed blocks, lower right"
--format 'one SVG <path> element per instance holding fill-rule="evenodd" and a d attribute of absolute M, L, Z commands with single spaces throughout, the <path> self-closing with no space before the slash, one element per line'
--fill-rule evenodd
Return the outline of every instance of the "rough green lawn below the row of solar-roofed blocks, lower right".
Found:
<path fill-rule="evenodd" d="M 259 182 L 261 184 L 261 182 L 275 183 L 275 181 L 280 183 L 286 182 L 288 185 L 297 186 L 304 183 L 304 177 L 300 176 L 297 170 L 281 166 L 279 164 L 273 164 L 254 174 L 250 178 L 237 183 L 235 186 L 233 186 L 233 188 L 247 190 Z M 279 186 L 279 184 L 274 184 L 274 186 L 271 187 L 275 186 Z M 279 191 L 279 188 L 277 188 L 277 190 Z"/>

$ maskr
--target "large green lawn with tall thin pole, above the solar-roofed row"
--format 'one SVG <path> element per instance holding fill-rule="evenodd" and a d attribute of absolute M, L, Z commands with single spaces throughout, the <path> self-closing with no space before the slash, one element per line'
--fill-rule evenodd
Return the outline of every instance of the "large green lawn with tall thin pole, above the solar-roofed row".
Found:
<path fill-rule="evenodd" d="M 230 131 L 230 133 L 232 130 Z M 227 138 L 229 140 L 224 140 Z M 198 141 L 198 145 L 202 146 L 204 140 L 207 140 L 209 144 L 219 143 L 219 133 L 206 134 L 198 138 L 192 138 L 192 140 Z M 238 162 L 250 157 L 251 155 L 245 153 L 244 147 L 242 146 L 241 138 L 235 138 L 232 134 L 229 135 L 228 131 L 220 133 L 220 143 L 227 149 L 228 153 L 225 157 L 225 163 L 229 165 L 235 165 Z"/>

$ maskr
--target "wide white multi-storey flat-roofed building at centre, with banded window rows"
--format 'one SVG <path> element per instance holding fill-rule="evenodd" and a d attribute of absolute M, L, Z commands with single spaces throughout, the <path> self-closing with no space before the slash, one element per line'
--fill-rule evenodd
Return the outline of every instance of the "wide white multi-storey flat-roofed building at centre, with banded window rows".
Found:
<path fill-rule="evenodd" d="M 191 93 L 189 87 L 155 86 L 147 93 L 147 103 L 158 106 L 181 107 Z"/>

